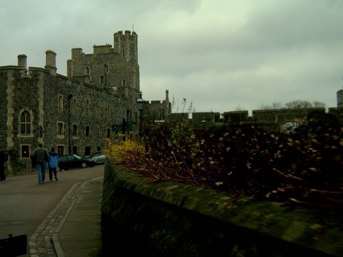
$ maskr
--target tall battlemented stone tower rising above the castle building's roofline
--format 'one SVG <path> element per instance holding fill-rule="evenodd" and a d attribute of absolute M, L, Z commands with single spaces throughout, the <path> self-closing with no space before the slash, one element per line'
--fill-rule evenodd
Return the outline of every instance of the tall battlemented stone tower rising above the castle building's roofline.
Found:
<path fill-rule="evenodd" d="M 137 121 L 139 97 L 139 64 L 137 34 L 126 30 L 114 34 L 112 45 L 94 45 L 93 53 L 82 48 L 71 49 L 67 60 L 67 77 L 108 90 L 123 98 L 125 121 Z"/>

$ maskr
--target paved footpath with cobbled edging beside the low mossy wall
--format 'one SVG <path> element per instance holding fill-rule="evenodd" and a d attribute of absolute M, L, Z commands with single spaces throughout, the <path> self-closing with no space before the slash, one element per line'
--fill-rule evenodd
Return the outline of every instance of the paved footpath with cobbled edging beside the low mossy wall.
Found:
<path fill-rule="evenodd" d="M 101 257 L 104 177 L 72 186 L 29 237 L 31 257 Z"/>

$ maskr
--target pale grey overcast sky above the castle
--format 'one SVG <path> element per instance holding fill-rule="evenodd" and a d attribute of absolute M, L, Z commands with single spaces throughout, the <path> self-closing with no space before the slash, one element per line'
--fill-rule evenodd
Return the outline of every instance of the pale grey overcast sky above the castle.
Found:
<path fill-rule="evenodd" d="M 0 0 L 0 66 L 44 67 L 138 34 L 145 100 L 174 112 L 256 110 L 297 99 L 337 106 L 343 85 L 342 0 Z"/>

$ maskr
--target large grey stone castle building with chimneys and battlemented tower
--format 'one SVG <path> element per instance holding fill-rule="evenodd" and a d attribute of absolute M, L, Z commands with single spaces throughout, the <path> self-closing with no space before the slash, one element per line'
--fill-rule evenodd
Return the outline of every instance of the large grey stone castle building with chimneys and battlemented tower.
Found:
<path fill-rule="evenodd" d="M 7 173 L 33 171 L 29 159 L 43 143 L 58 155 L 90 156 L 115 139 L 115 125 L 130 123 L 128 136 L 139 125 L 139 64 L 137 34 L 117 32 L 114 45 L 93 46 L 93 53 L 71 49 L 67 77 L 56 73 L 56 53 L 46 51 L 44 69 L 27 68 L 27 56 L 17 66 L 0 67 L 0 147 L 8 154 Z M 163 101 L 147 102 L 150 115 L 169 114 Z"/>

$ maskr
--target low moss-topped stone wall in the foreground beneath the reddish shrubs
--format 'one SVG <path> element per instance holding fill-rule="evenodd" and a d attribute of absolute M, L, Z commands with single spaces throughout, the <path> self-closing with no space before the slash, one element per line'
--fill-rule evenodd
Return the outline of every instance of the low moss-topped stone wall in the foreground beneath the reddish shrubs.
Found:
<path fill-rule="evenodd" d="M 342 213 L 284 206 L 105 166 L 106 256 L 342 256 Z M 323 230 L 324 229 L 324 230 Z M 321 232 L 320 232 L 321 231 Z"/>

